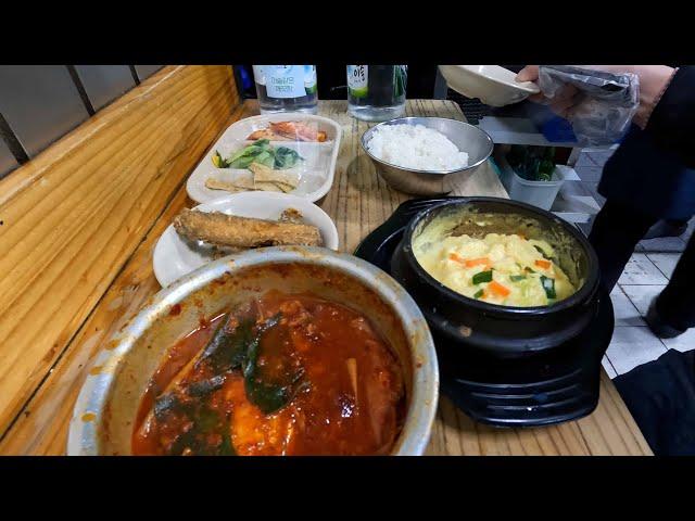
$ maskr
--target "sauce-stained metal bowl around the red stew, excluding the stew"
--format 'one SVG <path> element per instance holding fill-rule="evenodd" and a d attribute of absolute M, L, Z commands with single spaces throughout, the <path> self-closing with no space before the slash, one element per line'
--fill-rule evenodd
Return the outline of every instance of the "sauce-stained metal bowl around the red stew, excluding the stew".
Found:
<path fill-rule="evenodd" d="M 77 397 L 68 455 L 128 455 L 134 419 L 167 348 L 210 317 L 269 289 L 313 292 L 352 307 L 389 339 L 403 370 L 407 412 L 393 455 L 421 455 L 439 396 L 439 370 L 425 317 L 379 268 L 323 247 L 264 247 L 210 263 L 160 291 L 104 345 Z"/>

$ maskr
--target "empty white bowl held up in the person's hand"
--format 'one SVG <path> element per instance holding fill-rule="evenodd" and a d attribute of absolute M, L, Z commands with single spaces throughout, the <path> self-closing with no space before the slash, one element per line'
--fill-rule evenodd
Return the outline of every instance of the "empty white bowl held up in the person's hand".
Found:
<path fill-rule="evenodd" d="M 541 92 L 532 81 L 517 81 L 516 74 L 500 65 L 440 65 L 450 88 L 491 106 L 518 103 Z"/>

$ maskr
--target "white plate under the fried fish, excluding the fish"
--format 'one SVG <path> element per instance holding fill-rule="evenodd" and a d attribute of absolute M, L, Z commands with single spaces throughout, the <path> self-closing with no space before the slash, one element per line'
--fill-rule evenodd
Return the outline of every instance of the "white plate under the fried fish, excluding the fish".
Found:
<path fill-rule="evenodd" d="M 287 208 L 298 209 L 307 225 L 318 228 L 325 247 L 338 250 L 338 230 L 331 218 L 311 201 L 298 195 L 275 192 L 243 192 L 200 204 L 193 209 L 277 220 Z M 179 237 L 174 225 L 169 225 L 154 246 L 152 258 L 154 277 L 162 287 L 167 287 L 180 277 L 214 259 L 212 246 L 202 241 L 199 241 L 198 244 L 191 244 Z"/>

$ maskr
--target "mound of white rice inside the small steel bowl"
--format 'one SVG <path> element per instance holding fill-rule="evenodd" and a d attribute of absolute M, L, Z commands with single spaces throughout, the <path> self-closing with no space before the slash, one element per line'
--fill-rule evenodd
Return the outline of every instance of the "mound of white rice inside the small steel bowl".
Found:
<path fill-rule="evenodd" d="M 416 170 L 453 170 L 468 166 L 462 152 L 442 132 L 422 125 L 383 125 L 367 143 L 369 152 L 393 165 Z"/>

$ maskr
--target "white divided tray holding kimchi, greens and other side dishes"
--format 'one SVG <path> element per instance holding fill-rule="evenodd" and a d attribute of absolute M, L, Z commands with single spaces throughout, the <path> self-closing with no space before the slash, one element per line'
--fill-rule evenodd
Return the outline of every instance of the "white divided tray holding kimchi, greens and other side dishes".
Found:
<path fill-rule="evenodd" d="M 280 113 L 232 124 L 189 177 L 188 195 L 208 203 L 250 191 L 316 202 L 333 183 L 342 128 L 327 117 Z"/>

